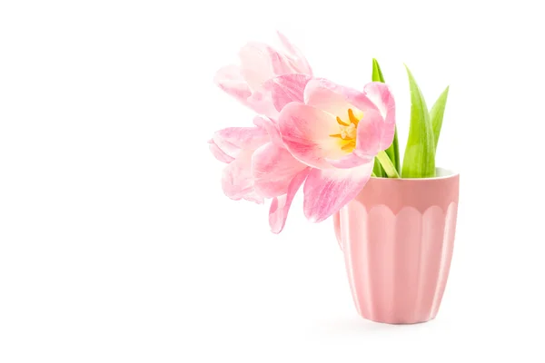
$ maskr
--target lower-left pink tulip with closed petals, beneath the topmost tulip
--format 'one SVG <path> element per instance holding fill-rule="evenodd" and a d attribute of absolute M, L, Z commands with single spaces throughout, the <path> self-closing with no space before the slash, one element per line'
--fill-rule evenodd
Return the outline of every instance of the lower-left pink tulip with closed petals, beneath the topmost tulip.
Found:
<path fill-rule="evenodd" d="M 253 123 L 255 127 L 215 132 L 209 148 L 217 160 L 228 163 L 222 179 L 225 195 L 258 204 L 272 198 L 269 224 L 273 233 L 280 233 L 293 197 L 311 168 L 295 160 L 283 146 L 277 123 L 260 116 Z"/>

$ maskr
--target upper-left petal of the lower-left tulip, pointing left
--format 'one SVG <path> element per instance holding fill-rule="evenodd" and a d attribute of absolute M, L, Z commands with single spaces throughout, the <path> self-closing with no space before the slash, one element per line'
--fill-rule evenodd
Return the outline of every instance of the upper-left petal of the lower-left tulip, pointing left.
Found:
<path fill-rule="evenodd" d="M 267 131 L 260 127 L 228 127 L 213 134 L 213 142 L 233 158 L 241 150 L 255 150 L 269 140 Z"/>

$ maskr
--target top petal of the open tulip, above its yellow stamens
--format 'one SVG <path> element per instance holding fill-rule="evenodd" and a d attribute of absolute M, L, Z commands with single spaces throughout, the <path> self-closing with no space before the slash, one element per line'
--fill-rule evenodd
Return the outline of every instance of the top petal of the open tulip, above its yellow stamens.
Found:
<path fill-rule="evenodd" d="M 376 106 L 362 92 L 325 79 L 312 79 L 304 90 L 304 102 L 334 116 L 345 116 L 348 109 L 376 110 Z"/>

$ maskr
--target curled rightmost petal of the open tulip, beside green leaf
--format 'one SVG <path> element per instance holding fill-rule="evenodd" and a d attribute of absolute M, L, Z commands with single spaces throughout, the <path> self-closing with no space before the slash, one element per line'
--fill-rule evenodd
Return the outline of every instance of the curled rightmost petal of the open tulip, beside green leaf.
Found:
<path fill-rule="evenodd" d="M 377 106 L 384 119 L 382 126 L 380 149 L 385 150 L 393 141 L 395 133 L 395 100 L 388 85 L 380 82 L 367 83 L 363 92 Z"/>

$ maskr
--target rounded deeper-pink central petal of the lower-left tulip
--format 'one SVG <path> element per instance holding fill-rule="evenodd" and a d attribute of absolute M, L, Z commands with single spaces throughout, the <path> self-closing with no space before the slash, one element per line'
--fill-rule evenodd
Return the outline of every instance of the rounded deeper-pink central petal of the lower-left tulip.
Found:
<path fill-rule="evenodd" d="M 253 152 L 254 188 L 265 198 L 277 197 L 288 191 L 293 177 L 307 166 L 293 158 L 285 148 L 272 142 Z"/>

